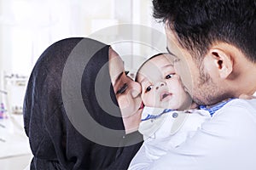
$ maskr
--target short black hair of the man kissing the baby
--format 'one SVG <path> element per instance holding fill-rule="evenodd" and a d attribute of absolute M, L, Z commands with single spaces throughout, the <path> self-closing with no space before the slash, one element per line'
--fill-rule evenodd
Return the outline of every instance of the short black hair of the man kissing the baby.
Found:
<path fill-rule="evenodd" d="M 195 59 L 214 42 L 227 42 L 256 62 L 256 0 L 153 0 L 153 5 L 154 18 L 176 32 Z"/>

